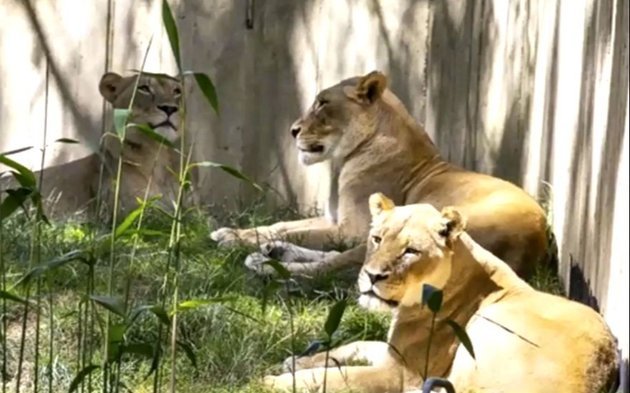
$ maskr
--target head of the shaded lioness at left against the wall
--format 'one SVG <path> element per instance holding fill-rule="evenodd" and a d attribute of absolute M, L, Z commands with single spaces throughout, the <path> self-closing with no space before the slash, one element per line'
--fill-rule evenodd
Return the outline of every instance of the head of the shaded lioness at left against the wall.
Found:
<path fill-rule="evenodd" d="M 128 108 L 137 75 L 122 77 L 108 72 L 99 83 L 101 95 L 114 108 Z M 130 123 L 146 124 L 170 142 L 179 139 L 179 109 L 182 95 L 181 82 L 167 75 L 142 74 L 134 98 Z M 127 139 L 142 144 L 146 138 L 137 130 L 130 129 Z"/>

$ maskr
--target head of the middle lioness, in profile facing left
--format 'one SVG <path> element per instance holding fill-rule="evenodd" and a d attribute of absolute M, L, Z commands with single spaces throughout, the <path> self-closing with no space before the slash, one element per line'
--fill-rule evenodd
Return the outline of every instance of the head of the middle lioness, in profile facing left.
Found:
<path fill-rule="evenodd" d="M 343 80 L 315 98 L 291 126 L 304 165 L 346 157 L 376 129 L 378 102 L 387 78 L 378 71 Z"/>

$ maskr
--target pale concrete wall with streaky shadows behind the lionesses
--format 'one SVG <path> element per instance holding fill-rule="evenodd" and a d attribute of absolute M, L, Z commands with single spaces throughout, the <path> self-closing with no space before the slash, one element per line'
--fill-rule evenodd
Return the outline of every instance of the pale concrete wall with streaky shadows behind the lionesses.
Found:
<path fill-rule="evenodd" d="M 627 1 L 171 4 L 184 67 L 207 72 L 220 100 L 217 117 L 188 87 L 197 159 L 313 206 L 327 168 L 298 165 L 288 127 L 319 89 L 381 69 L 446 157 L 549 201 L 571 295 L 601 309 L 627 355 Z M 147 69 L 173 72 L 157 0 L 1 2 L 0 151 L 41 146 L 45 130 L 86 142 L 55 147 L 47 165 L 88 154 L 108 127 L 100 74 L 139 68 L 152 36 Z M 36 167 L 40 154 L 18 158 Z M 206 202 L 254 196 L 216 171 L 199 189 Z"/>

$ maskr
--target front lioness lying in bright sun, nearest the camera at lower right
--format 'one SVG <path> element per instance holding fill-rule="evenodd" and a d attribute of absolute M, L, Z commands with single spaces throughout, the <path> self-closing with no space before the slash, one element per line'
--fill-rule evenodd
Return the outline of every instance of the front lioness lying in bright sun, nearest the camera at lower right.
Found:
<path fill-rule="evenodd" d="M 596 393 L 612 383 L 614 337 L 594 310 L 530 287 L 464 232 L 465 219 L 453 208 L 395 207 L 382 194 L 369 205 L 359 303 L 391 310 L 393 320 L 387 344 L 355 342 L 330 352 L 328 392 L 417 389 L 427 358 L 427 375 L 448 377 L 458 393 Z M 444 291 L 428 356 L 432 313 L 422 306 L 424 284 Z M 465 327 L 476 359 L 447 319 Z M 324 353 L 296 359 L 299 391 L 321 389 L 324 359 Z M 344 366 L 357 360 L 368 365 Z M 290 390 L 292 374 L 265 383 Z"/>

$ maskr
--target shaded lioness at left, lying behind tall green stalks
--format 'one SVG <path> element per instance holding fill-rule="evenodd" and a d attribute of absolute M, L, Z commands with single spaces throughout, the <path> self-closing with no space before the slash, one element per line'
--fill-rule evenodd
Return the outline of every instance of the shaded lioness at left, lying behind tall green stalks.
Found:
<path fill-rule="evenodd" d="M 127 109 L 136 81 L 138 88 L 128 122 L 153 128 L 167 143 L 177 143 L 182 94 L 182 84 L 177 78 L 142 73 L 138 80 L 138 74 L 123 77 L 108 72 L 101 77 L 99 91 L 113 108 Z M 176 175 L 171 171 L 178 168 L 178 156 L 172 148 L 137 127 L 127 129 L 122 145 L 113 133 L 107 133 L 101 146 L 99 153 L 44 169 L 42 194 L 51 202 L 51 210 L 57 211 L 57 215 L 65 216 L 94 206 L 99 190 L 104 205 L 101 212 L 111 213 L 119 157 L 122 158 L 121 211 L 129 212 L 137 207 L 136 198 L 144 198 L 147 186 L 149 198 L 162 195 L 157 201 L 162 206 L 168 206 L 176 198 Z M 101 165 L 104 169 L 102 182 L 99 176 Z M 14 187 L 15 181 L 10 176 L 0 178 L 1 189 Z"/>

